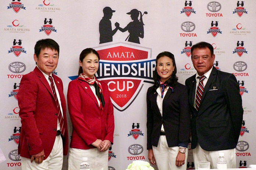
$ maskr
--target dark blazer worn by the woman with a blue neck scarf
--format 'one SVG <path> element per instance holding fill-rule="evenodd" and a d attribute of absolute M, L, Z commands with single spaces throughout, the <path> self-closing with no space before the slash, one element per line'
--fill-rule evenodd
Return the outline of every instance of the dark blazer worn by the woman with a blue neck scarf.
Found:
<path fill-rule="evenodd" d="M 166 133 L 168 147 L 187 147 L 191 113 L 188 104 L 188 89 L 177 83 L 174 92 L 171 88 L 163 100 L 163 117 L 156 103 L 158 93 L 152 87 L 147 90 L 147 149 L 157 147 L 161 126 Z"/>

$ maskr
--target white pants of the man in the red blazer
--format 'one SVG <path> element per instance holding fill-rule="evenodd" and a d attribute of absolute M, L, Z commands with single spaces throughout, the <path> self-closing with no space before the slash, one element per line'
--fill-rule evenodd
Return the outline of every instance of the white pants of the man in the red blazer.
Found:
<path fill-rule="evenodd" d="M 31 163 L 31 159 L 21 157 L 22 170 L 61 170 L 63 164 L 63 144 L 61 136 L 56 136 L 53 149 L 48 158 L 42 163 L 37 164 L 35 160 Z"/>

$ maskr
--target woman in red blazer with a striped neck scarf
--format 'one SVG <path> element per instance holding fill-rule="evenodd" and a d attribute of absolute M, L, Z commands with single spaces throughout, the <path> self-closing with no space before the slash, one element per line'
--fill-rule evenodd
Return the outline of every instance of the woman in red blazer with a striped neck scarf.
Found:
<path fill-rule="evenodd" d="M 79 169 L 82 157 L 90 165 L 108 169 L 108 149 L 113 144 L 114 114 L 108 86 L 98 81 L 99 54 L 84 49 L 79 57 L 78 78 L 68 85 L 68 111 L 73 125 L 68 169 Z"/>

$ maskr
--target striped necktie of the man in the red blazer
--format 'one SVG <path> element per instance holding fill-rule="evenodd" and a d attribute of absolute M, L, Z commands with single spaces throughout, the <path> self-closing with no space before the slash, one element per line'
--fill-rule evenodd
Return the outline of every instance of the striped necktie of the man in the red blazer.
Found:
<path fill-rule="evenodd" d="M 61 131 L 61 134 L 64 136 L 64 134 L 65 134 L 64 119 L 63 119 L 62 114 L 61 114 L 60 103 L 58 102 L 56 90 L 55 90 L 54 83 L 53 83 L 53 78 L 50 75 L 49 75 L 49 80 L 51 82 L 51 90 L 53 91 L 53 96 L 54 96 L 54 99 L 55 99 L 55 102 L 56 102 L 56 105 L 57 105 L 58 121 L 60 123 L 60 131 Z"/>

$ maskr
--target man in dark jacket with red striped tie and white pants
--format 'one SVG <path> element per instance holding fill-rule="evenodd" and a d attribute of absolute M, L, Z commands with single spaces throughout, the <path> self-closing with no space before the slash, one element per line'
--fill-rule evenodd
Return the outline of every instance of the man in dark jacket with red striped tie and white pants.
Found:
<path fill-rule="evenodd" d="M 191 148 L 195 169 L 198 169 L 197 162 L 200 160 L 211 162 L 211 168 L 216 169 L 219 152 L 224 152 L 227 167 L 235 168 L 235 147 L 243 120 L 237 79 L 233 74 L 213 67 L 215 55 L 211 44 L 199 42 L 192 46 L 191 54 L 197 73 L 189 77 L 185 84 L 192 112 Z M 200 77 L 202 82 L 199 82 Z"/>

